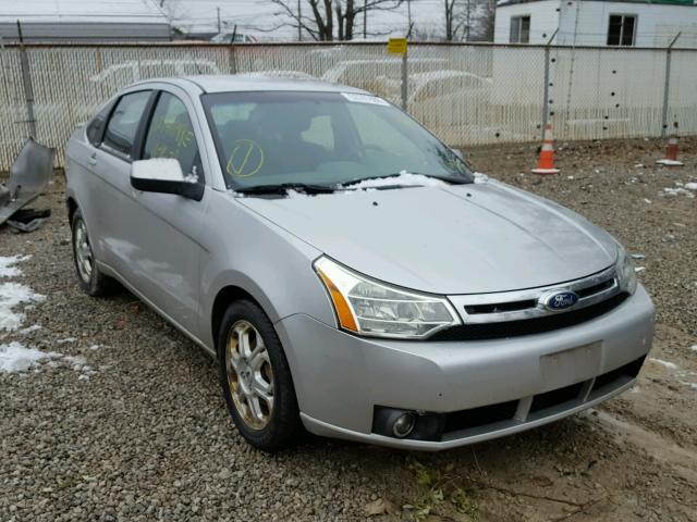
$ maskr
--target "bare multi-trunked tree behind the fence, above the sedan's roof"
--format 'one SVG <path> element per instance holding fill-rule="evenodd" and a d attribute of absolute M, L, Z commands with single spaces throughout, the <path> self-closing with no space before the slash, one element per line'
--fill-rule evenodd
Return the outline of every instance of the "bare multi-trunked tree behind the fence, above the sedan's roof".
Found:
<path fill-rule="evenodd" d="M 372 11 L 390 11 L 404 0 L 269 0 L 283 17 L 277 27 L 295 27 L 319 41 L 352 40 L 356 23 Z M 369 33 L 371 36 L 375 33 Z"/>

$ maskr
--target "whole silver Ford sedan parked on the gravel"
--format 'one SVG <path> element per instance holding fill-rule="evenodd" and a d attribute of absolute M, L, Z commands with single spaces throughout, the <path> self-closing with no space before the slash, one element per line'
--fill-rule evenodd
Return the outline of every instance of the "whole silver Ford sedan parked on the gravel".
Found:
<path fill-rule="evenodd" d="M 78 284 L 118 281 L 217 358 L 264 450 L 519 432 L 627 389 L 651 347 L 608 233 L 358 89 L 142 82 L 75 130 L 66 175 Z"/>

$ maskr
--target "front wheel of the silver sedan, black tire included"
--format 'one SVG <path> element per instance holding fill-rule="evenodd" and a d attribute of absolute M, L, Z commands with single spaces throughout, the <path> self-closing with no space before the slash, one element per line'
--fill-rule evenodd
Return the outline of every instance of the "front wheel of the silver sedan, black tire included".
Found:
<path fill-rule="evenodd" d="M 293 377 L 266 313 L 248 300 L 232 302 L 217 346 L 220 384 L 240 434 L 268 452 L 293 445 L 302 433 Z"/>

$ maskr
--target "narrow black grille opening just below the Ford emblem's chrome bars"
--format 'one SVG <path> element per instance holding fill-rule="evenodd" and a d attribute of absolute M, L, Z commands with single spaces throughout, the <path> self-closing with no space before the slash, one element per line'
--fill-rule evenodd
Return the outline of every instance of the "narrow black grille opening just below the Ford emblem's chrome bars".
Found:
<path fill-rule="evenodd" d="M 540 318 L 503 323 L 461 324 L 436 333 L 429 340 L 500 339 L 553 332 L 597 319 L 619 307 L 626 298 L 626 294 L 619 294 L 590 307 Z"/>

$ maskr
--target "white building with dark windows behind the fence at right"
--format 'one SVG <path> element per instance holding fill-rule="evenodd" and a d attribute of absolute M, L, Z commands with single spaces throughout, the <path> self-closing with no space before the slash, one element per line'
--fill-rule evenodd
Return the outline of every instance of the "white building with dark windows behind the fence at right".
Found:
<path fill-rule="evenodd" d="M 697 47 L 697 0 L 500 0 L 497 44 Z"/>

